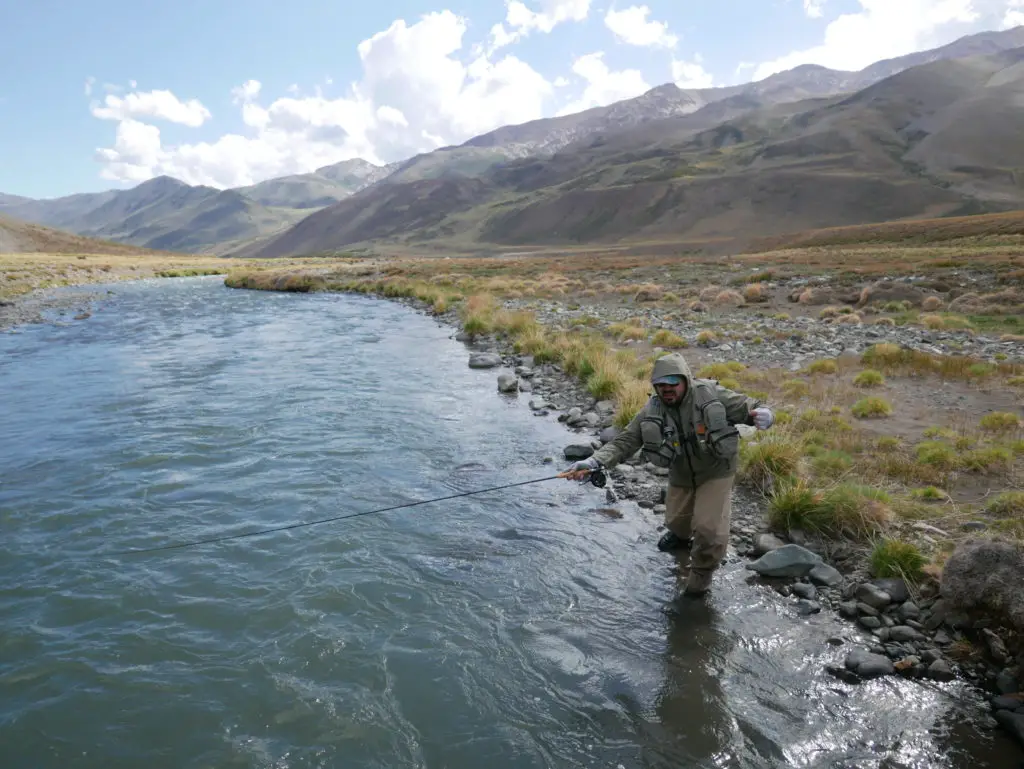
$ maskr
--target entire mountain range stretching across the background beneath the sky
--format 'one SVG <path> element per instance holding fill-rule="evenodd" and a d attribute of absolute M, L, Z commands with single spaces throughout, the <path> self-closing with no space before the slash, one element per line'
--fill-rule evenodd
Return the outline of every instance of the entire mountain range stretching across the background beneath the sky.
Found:
<path fill-rule="evenodd" d="M 879 61 L 798 67 L 504 126 L 388 166 L 343 161 L 233 189 L 158 177 L 0 214 L 151 249 L 631 239 L 730 250 L 822 226 L 1024 207 L 1024 27 Z"/>

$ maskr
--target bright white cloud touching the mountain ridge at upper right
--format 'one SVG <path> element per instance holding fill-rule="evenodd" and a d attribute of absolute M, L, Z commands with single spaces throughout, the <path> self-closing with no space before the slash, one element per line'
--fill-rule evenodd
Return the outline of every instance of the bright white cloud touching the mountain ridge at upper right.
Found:
<path fill-rule="evenodd" d="M 858 0 L 860 10 L 843 13 L 825 28 L 820 45 L 761 63 L 761 80 L 799 65 L 816 63 L 856 71 L 874 61 L 943 45 L 995 26 L 1017 0 Z"/>

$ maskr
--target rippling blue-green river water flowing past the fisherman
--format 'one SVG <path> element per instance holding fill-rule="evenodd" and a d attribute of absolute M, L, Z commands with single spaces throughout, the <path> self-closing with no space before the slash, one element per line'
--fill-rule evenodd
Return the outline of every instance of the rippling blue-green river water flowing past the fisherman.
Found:
<path fill-rule="evenodd" d="M 850 686 L 851 629 L 546 481 L 570 436 L 366 297 L 112 287 L 0 336 L 0 766 L 1005 767 L 954 684 Z M 545 464 L 547 456 L 555 465 Z"/>

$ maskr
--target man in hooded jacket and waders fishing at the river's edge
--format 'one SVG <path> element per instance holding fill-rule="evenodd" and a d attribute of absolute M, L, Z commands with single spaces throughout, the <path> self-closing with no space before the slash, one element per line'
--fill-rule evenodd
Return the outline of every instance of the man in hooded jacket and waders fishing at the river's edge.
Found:
<path fill-rule="evenodd" d="M 729 544 L 739 453 L 735 425 L 767 430 L 775 417 L 755 398 L 712 380 L 694 379 L 678 352 L 654 362 L 650 381 L 656 394 L 614 440 L 572 465 L 567 477 L 583 480 L 594 470 L 614 467 L 638 450 L 647 461 L 669 468 L 665 513 L 669 530 L 657 547 L 689 550 L 685 592 L 700 595 L 711 588 Z"/>

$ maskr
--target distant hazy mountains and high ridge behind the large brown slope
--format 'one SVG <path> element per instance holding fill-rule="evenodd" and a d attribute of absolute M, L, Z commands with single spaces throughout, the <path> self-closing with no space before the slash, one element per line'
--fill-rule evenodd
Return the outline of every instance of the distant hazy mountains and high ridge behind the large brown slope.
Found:
<path fill-rule="evenodd" d="M 48 200 L 0 195 L 0 213 L 78 234 L 133 245 L 156 247 L 160 244 L 161 247 L 200 253 L 236 252 L 246 243 L 272 241 L 278 233 L 286 232 L 310 215 L 353 197 L 376 195 L 368 190 L 381 184 L 441 178 L 489 179 L 495 173 L 525 173 L 524 169 L 531 164 L 543 166 L 566 154 L 580 156 L 588 146 L 602 157 L 609 148 L 620 145 L 633 146 L 640 153 L 649 152 L 652 146 L 672 143 L 673 137 L 713 129 L 716 125 L 728 126 L 758 111 L 777 108 L 778 120 L 784 121 L 787 119 L 785 114 L 792 112 L 787 105 L 807 99 L 828 101 L 842 93 L 856 93 L 893 74 L 936 60 L 976 53 L 987 55 L 1019 46 L 1024 46 L 1024 27 L 966 36 L 939 48 L 877 61 L 857 72 L 802 65 L 760 81 L 733 86 L 681 89 L 667 83 L 633 99 L 572 115 L 502 126 L 462 144 L 386 166 L 351 159 L 305 174 L 223 190 L 188 185 L 171 177 L 157 177 L 128 189 Z M 953 153 L 948 146 L 943 152 Z M 588 165 L 586 159 L 579 157 L 575 162 Z M 972 182 L 968 178 L 974 173 L 970 164 L 958 167 L 967 169 L 959 172 L 964 184 L 980 184 L 983 191 L 987 190 L 986 195 L 999 186 L 990 180 Z M 984 174 L 997 176 L 998 172 L 989 169 Z M 485 181 L 484 186 L 489 183 Z M 462 187 L 455 185 L 452 188 L 456 191 L 455 200 L 462 200 Z M 480 185 L 476 188 L 479 191 Z M 225 197 L 226 193 L 232 195 Z M 401 197 L 393 193 L 385 196 Z M 1006 190 L 1004 197 L 1006 203 L 1014 200 Z M 371 218 L 377 220 L 379 217 Z"/>

